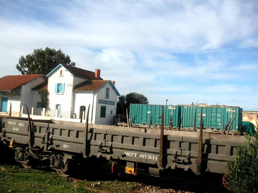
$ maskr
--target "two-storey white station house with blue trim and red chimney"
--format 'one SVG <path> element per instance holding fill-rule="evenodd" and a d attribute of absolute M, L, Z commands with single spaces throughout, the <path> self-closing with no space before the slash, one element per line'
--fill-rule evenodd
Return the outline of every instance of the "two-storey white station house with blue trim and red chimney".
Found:
<path fill-rule="evenodd" d="M 85 118 L 90 104 L 89 123 L 112 124 L 116 115 L 117 96 L 120 96 L 110 80 L 77 67 L 59 64 L 48 75 L 49 103 L 46 116 L 60 118 Z M 114 81 L 113 81 L 114 82 Z"/>

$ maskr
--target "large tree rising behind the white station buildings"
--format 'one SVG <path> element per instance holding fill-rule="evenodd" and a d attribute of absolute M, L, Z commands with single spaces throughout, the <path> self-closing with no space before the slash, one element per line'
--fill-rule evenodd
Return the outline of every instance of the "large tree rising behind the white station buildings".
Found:
<path fill-rule="evenodd" d="M 60 49 L 55 50 L 46 47 L 34 49 L 32 54 L 28 54 L 25 57 L 22 55 L 19 58 L 19 64 L 16 68 L 21 74 L 44 74 L 47 75 L 58 64 L 66 64 L 75 66 L 74 62 L 71 62 L 69 55 L 65 55 Z"/>

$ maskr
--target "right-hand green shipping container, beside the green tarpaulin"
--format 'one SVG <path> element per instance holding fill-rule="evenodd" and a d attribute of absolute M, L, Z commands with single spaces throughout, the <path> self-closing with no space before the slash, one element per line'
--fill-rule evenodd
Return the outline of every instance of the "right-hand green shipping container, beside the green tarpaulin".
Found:
<path fill-rule="evenodd" d="M 201 108 L 203 114 L 203 128 L 207 129 L 223 129 L 224 126 L 231 122 L 236 115 L 230 130 L 238 131 L 242 125 L 243 109 L 239 107 L 214 107 L 214 106 L 189 106 L 182 105 L 180 125 L 183 128 L 193 128 L 194 115 L 196 110 L 196 127 L 200 128 Z"/>

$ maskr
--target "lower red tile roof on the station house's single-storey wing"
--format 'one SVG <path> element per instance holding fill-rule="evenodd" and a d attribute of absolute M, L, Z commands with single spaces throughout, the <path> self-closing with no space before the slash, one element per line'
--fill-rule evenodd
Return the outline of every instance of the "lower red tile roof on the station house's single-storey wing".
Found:
<path fill-rule="evenodd" d="M 73 91 L 97 91 L 110 80 L 86 80 L 75 85 Z"/>

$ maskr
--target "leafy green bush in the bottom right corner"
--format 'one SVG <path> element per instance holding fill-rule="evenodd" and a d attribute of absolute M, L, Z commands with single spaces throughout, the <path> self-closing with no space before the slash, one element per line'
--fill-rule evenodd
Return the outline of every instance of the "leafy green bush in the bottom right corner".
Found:
<path fill-rule="evenodd" d="M 253 140 L 245 136 L 245 144 L 237 148 L 236 158 L 227 164 L 225 184 L 232 192 L 258 192 L 258 133 Z"/>

